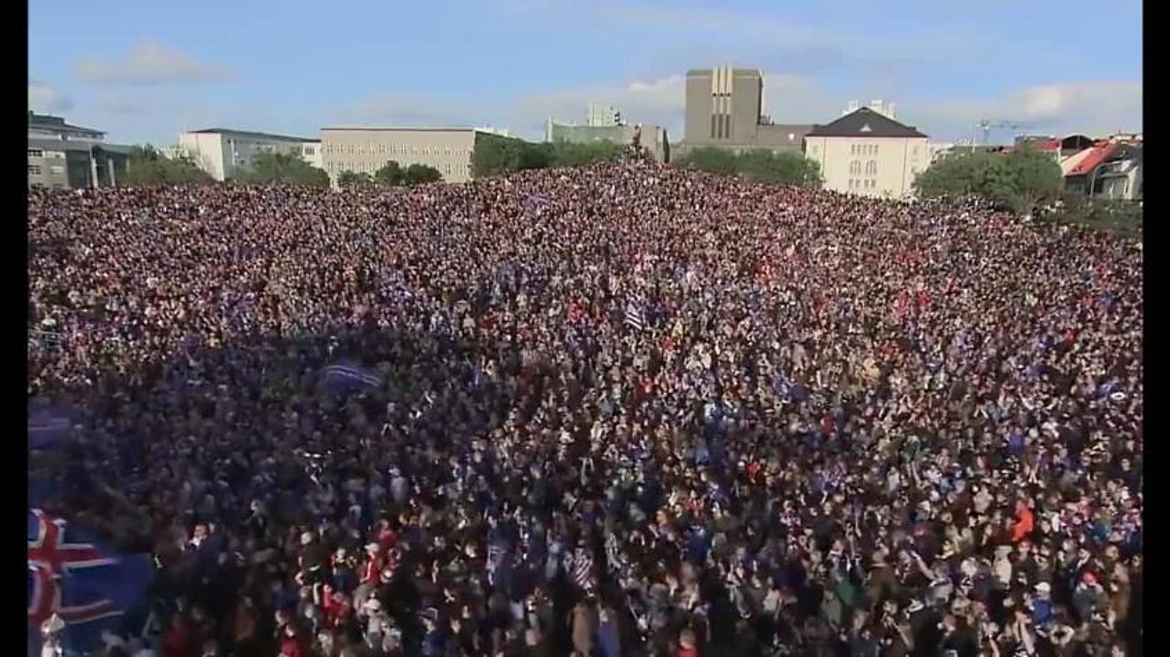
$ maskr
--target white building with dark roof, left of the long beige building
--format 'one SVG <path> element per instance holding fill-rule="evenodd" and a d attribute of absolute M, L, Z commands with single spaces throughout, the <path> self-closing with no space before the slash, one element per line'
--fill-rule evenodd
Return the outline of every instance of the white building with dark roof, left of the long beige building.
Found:
<path fill-rule="evenodd" d="M 235 178 L 260 153 L 289 153 L 322 168 L 321 140 L 212 127 L 179 136 L 179 152 L 215 180 Z"/>

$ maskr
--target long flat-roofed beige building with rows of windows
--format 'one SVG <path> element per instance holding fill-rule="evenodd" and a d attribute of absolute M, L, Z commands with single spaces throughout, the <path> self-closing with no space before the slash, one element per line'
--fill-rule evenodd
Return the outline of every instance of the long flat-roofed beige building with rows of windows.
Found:
<path fill-rule="evenodd" d="M 473 127 L 325 127 L 321 131 L 322 164 L 336 185 L 343 172 L 373 175 L 387 161 L 439 170 L 447 182 L 472 178 Z"/>

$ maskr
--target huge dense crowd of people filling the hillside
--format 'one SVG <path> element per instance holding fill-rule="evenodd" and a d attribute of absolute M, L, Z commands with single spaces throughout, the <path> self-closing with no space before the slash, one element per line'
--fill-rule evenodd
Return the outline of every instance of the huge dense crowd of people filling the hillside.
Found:
<path fill-rule="evenodd" d="M 159 655 L 1140 653 L 1133 241 L 640 161 L 28 203 L 35 468 Z"/>

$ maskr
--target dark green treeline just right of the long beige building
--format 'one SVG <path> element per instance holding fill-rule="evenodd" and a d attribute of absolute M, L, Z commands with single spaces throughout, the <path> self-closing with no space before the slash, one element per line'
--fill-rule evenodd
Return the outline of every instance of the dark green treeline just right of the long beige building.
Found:
<path fill-rule="evenodd" d="M 498 134 L 477 134 L 472 153 L 472 175 L 484 178 L 529 168 L 555 168 L 581 166 L 600 161 L 614 161 L 622 148 L 613 141 L 569 144 L 565 141 L 524 141 Z"/>

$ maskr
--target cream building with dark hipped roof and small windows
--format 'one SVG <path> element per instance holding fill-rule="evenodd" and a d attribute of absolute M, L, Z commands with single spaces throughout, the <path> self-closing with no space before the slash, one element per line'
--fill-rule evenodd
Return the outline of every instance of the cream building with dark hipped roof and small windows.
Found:
<path fill-rule="evenodd" d="M 805 137 L 805 155 L 820 165 L 825 188 L 863 196 L 906 199 L 930 166 L 930 138 L 869 108 Z"/>

